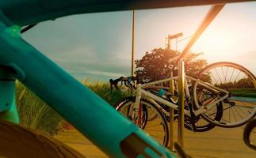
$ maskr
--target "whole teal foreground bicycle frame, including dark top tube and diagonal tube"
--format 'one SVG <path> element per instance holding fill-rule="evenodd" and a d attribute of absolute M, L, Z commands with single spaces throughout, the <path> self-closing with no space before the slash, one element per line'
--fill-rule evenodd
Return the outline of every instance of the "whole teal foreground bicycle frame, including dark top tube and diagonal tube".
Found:
<path fill-rule="evenodd" d="M 243 2 L 243 0 L 218 0 Z M 209 4 L 167 0 L 0 1 L 0 119 L 19 122 L 15 79 L 35 92 L 110 157 L 175 157 L 20 36 L 21 27 L 75 13 Z M 132 140 L 132 141 L 131 141 Z M 135 145 L 136 146 L 135 146 Z M 134 148 L 134 146 L 136 148 Z"/>

